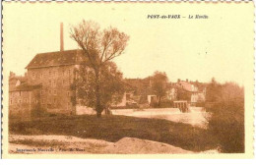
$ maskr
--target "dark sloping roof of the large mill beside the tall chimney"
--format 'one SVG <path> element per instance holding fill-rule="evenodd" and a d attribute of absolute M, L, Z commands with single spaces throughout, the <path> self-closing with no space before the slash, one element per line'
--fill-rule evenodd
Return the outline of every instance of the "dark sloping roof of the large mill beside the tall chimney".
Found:
<path fill-rule="evenodd" d="M 26 69 L 75 65 L 85 61 L 80 49 L 38 53 Z"/>

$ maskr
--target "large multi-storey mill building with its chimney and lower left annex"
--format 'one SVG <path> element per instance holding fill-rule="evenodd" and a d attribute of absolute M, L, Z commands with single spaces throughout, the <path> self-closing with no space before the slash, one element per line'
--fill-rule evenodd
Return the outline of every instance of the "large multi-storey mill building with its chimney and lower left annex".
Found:
<path fill-rule="evenodd" d="M 78 113 L 78 105 L 72 101 L 75 92 L 71 84 L 78 77 L 77 69 L 87 63 L 87 59 L 82 50 L 64 50 L 62 35 L 61 32 L 60 51 L 36 54 L 26 67 L 24 77 L 10 73 L 9 112 L 12 117 L 21 117 L 19 113 L 29 117 L 35 105 L 49 113 Z"/>

